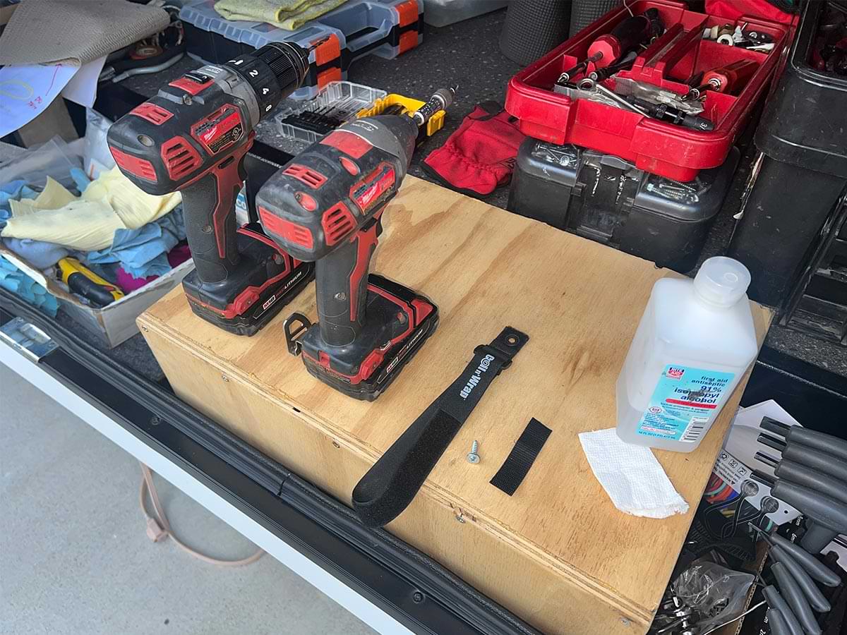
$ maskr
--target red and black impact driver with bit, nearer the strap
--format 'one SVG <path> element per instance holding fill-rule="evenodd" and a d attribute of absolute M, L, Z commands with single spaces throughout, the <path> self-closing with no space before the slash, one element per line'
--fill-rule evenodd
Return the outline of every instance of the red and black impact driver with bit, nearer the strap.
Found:
<path fill-rule="evenodd" d="M 451 102 L 451 91 L 442 89 L 414 113 L 344 124 L 294 157 L 256 196 L 265 232 L 316 265 L 318 323 L 292 315 L 285 322 L 288 350 L 302 354 L 309 373 L 357 399 L 376 399 L 438 324 L 432 302 L 368 277 L 368 268 L 418 128 Z"/>

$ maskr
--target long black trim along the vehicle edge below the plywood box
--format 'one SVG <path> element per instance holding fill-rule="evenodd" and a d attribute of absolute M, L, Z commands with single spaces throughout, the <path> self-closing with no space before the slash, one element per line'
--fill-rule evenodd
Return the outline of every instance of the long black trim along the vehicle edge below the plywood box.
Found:
<path fill-rule="evenodd" d="M 540 635 L 435 560 L 363 527 L 337 500 L 0 289 L 0 323 L 11 317 L 25 318 L 59 345 L 42 367 L 412 632 Z"/>

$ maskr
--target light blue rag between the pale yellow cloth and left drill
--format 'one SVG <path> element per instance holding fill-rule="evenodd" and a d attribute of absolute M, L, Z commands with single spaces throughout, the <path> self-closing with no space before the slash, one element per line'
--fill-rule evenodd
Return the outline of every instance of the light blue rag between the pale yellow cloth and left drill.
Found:
<path fill-rule="evenodd" d="M 185 222 L 182 207 L 175 207 L 139 229 L 117 229 L 111 247 L 89 251 L 84 259 L 88 265 L 119 262 L 135 278 L 161 276 L 170 271 L 168 252 L 180 240 L 185 240 Z"/>

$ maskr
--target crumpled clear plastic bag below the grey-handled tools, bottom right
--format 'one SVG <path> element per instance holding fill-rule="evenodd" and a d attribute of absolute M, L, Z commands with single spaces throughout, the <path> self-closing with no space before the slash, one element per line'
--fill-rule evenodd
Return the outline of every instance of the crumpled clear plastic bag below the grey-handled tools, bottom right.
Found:
<path fill-rule="evenodd" d="M 705 617 L 697 626 L 707 631 L 744 611 L 747 591 L 754 579 L 750 573 L 700 562 L 680 573 L 672 586 L 679 599 Z"/>

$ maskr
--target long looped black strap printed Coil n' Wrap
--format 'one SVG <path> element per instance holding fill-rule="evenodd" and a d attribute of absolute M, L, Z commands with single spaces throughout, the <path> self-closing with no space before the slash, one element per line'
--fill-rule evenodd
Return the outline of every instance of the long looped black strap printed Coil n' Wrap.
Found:
<path fill-rule="evenodd" d="M 478 346 L 462 374 L 391 444 L 353 488 L 353 509 L 368 527 L 383 527 L 405 510 L 494 378 L 529 336 L 507 327 Z"/>

